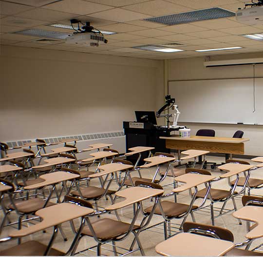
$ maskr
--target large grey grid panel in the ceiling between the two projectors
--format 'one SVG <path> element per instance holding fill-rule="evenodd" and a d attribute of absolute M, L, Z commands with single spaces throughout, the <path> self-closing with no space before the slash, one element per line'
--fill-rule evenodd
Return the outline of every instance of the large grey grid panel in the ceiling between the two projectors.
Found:
<path fill-rule="evenodd" d="M 189 23 L 200 20 L 213 20 L 219 18 L 226 18 L 235 16 L 235 13 L 227 11 L 225 9 L 215 7 L 203 10 L 197 10 L 186 13 L 178 13 L 172 15 L 165 15 L 160 17 L 147 18 L 144 20 L 153 21 L 156 23 L 162 23 L 166 25 L 176 25 L 182 23 Z"/>

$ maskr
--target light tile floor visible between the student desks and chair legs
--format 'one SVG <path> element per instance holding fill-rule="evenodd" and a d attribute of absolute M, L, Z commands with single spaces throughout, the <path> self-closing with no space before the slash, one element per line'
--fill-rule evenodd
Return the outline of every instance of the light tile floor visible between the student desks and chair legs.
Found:
<path fill-rule="evenodd" d="M 222 161 L 224 161 L 224 158 L 207 157 L 207 161 L 215 161 L 217 163 L 221 163 Z M 250 160 L 248 160 L 248 161 L 250 161 Z M 252 161 L 250 161 L 250 163 L 251 164 L 255 164 Z M 162 169 L 165 169 L 165 168 L 166 167 L 162 167 Z M 181 168 L 184 169 L 185 166 L 183 166 Z M 197 166 L 197 168 L 198 168 L 198 166 Z M 210 165 L 207 166 L 207 170 L 211 171 L 211 173 L 213 175 L 215 175 L 215 176 L 219 176 L 219 174 L 221 173 L 218 169 L 210 170 Z M 143 170 L 142 171 L 142 175 L 145 178 L 152 178 L 154 172 L 155 172 L 155 169 L 151 168 L 151 169 Z M 134 175 L 132 175 L 132 176 L 137 176 L 136 172 L 134 172 L 133 174 Z M 263 178 L 263 168 L 257 169 L 255 171 L 252 171 L 251 172 L 251 178 Z M 165 181 L 163 181 L 162 184 L 167 184 L 167 183 L 169 183 L 171 181 L 172 181 L 171 178 L 166 178 Z M 91 185 L 98 185 L 98 182 L 93 180 L 91 182 Z M 113 183 L 111 188 L 114 188 L 114 187 L 115 187 L 115 185 Z M 227 184 L 227 181 L 225 179 L 213 183 L 212 187 L 213 188 L 221 188 L 221 189 L 228 189 L 229 188 L 228 184 Z M 168 188 L 168 189 L 166 188 L 166 193 L 168 193 L 170 191 L 171 191 L 171 188 Z M 251 194 L 263 196 L 263 189 L 252 190 Z M 172 199 L 172 198 L 170 198 L 170 199 Z M 188 191 L 180 193 L 178 195 L 178 197 L 177 197 L 177 201 L 178 202 L 189 203 L 189 200 L 190 200 L 190 198 L 189 198 Z M 198 201 L 200 201 L 200 199 L 197 200 L 197 202 Z M 207 201 L 207 203 L 208 202 L 209 201 Z M 237 202 L 237 207 L 241 208 L 242 207 L 241 198 L 236 198 L 236 202 Z M 145 203 L 145 206 L 150 206 L 151 204 L 152 203 L 150 201 L 148 201 L 148 202 Z M 104 199 L 99 201 L 99 206 L 107 206 L 107 205 L 110 205 L 110 200 L 107 201 L 104 198 Z M 215 206 L 221 207 L 222 203 L 218 203 Z M 233 208 L 232 201 L 229 201 L 227 203 L 226 208 L 229 208 L 229 209 Z M 130 207 L 126 207 L 125 209 L 119 211 L 118 213 L 119 213 L 122 221 L 129 222 L 131 220 L 131 217 L 133 216 L 133 210 L 132 210 L 131 206 Z M 234 242 L 235 243 L 243 242 L 245 240 L 244 235 L 246 234 L 245 222 L 243 222 L 242 225 L 239 225 L 238 224 L 238 220 L 232 216 L 232 213 L 233 212 L 230 212 L 230 213 L 225 214 L 224 216 L 217 217 L 216 220 L 215 220 L 215 225 L 229 229 L 234 235 Z M 2 215 L 2 213 L 0 213 L 0 219 L 2 218 L 1 215 Z M 56 215 L 56 214 L 54 214 L 54 215 Z M 103 217 L 112 217 L 114 219 L 116 218 L 113 214 L 106 214 Z M 12 221 L 15 221 L 17 217 L 16 217 L 15 214 L 12 214 L 10 216 L 10 218 L 11 218 Z M 138 221 L 140 221 L 141 218 L 142 218 L 142 215 L 140 215 L 138 217 Z M 195 213 L 195 218 L 196 218 L 196 222 L 205 223 L 205 224 L 211 224 L 209 212 L 208 213 L 203 213 L 203 212 L 198 211 L 198 212 Z M 95 220 L 95 219 L 97 219 L 97 217 L 93 217 L 92 219 Z M 157 224 L 157 223 L 161 222 L 162 220 L 163 220 L 162 217 L 154 215 L 152 220 L 151 220 L 151 222 L 150 222 L 150 225 Z M 191 217 L 188 217 L 187 220 L 191 221 Z M 180 219 L 178 221 L 181 222 L 182 219 Z M 78 221 L 76 221 L 75 224 L 77 224 L 77 222 Z M 179 222 L 176 222 L 176 223 L 179 223 Z M 137 223 L 139 223 L 139 222 L 137 222 Z M 141 243 L 143 245 L 145 254 L 147 256 L 156 256 L 157 253 L 155 252 L 154 247 L 155 247 L 156 244 L 158 244 L 159 242 L 162 242 L 164 240 L 162 226 L 158 226 L 158 227 L 161 228 L 161 229 L 151 228 L 150 230 L 143 231 L 140 234 L 140 240 L 141 240 Z M 73 234 L 73 232 L 71 230 L 69 222 L 64 223 L 62 225 L 62 228 L 63 228 L 63 231 L 65 232 L 65 234 L 68 237 L 68 241 L 65 242 L 63 240 L 63 238 L 61 237 L 61 235 L 58 233 L 53 247 L 58 249 L 58 250 L 66 252 L 68 250 L 69 246 L 71 245 L 71 242 L 72 242 L 72 240 L 74 238 L 74 234 Z M 6 237 L 8 235 L 8 233 L 10 231 L 14 230 L 14 229 L 16 229 L 16 228 L 15 227 L 11 227 L 11 226 L 4 227 L 0 237 L 1 238 Z M 24 237 L 22 240 L 23 241 L 27 241 L 27 240 L 34 239 L 34 240 L 39 240 L 40 242 L 47 244 L 49 239 L 50 239 L 50 237 L 51 237 L 51 235 L 52 235 L 52 232 L 53 232 L 52 229 L 48 229 L 46 233 L 39 232 L 39 233 L 34 234 L 33 236 Z M 132 239 L 133 239 L 133 236 L 130 235 L 126 240 L 118 242 L 116 245 L 119 246 L 119 247 L 129 248 Z M 13 240 L 13 241 L 10 241 L 10 242 L 7 242 L 7 243 L 1 243 L 0 244 L 0 249 L 9 248 L 10 246 L 16 245 L 16 243 L 17 243 L 16 240 Z M 259 245 L 260 243 L 263 243 L 263 239 L 257 239 L 251 245 L 251 249 L 254 246 Z M 77 248 L 77 252 L 81 251 L 81 250 L 84 250 L 87 247 L 90 247 L 90 246 L 93 246 L 93 245 L 95 245 L 95 241 L 94 241 L 93 238 L 91 238 L 91 237 L 84 237 L 84 238 L 82 238 L 82 240 L 79 243 L 79 246 Z M 104 245 L 103 248 L 112 249 L 112 246 Z M 118 249 L 118 251 L 120 253 L 124 253 L 123 250 L 121 250 L 121 249 Z M 94 256 L 96 254 L 93 253 L 93 252 L 86 251 L 86 252 L 83 252 L 83 253 L 78 254 L 78 255 Z M 102 255 L 110 255 L 111 256 L 111 255 L 113 255 L 113 253 L 109 252 L 108 250 L 104 250 L 103 249 L 102 250 Z M 138 252 L 134 252 L 131 255 L 138 256 L 138 255 L 140 255 L 140 252 L 139 251 Z"/>

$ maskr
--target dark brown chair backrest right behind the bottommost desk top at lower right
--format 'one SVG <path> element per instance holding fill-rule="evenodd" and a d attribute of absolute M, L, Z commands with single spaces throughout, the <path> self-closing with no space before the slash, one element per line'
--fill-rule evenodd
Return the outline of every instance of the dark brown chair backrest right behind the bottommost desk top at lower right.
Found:
<path fill-rule="evenodd" d="M 219 238 L 230 242 L 234 241 L 234 236 L 232 232 L 228 229 L 221 227 L 195 223 L 195 222 L 185 222 L 183 225 L 183 230 L 184 232 L 194 233 L 206 237 Z"/>

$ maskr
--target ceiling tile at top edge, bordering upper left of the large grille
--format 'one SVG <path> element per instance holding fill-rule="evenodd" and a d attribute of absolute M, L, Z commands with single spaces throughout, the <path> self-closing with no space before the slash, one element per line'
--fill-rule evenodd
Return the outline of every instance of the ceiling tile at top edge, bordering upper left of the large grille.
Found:
<path fill-rule="evenodd" d="M 149 2 L 136 3 L 136 4 L 125 6 L 123 8 L 134 12 L 152 15 L 152 16 L 161 16 L 166 14 L 187 12 L 189 10 L 192 10 L 192 8 L 187 8 L 163 0 L 153 0 Z"/>

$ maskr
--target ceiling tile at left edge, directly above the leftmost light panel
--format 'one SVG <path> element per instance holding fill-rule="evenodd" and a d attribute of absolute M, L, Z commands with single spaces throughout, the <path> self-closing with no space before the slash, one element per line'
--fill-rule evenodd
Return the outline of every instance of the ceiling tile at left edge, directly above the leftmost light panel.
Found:
<path fill-rule="evenodd" d="M 15 16 L 7 16 L 0 20 L 1 24 L 3 25 L 9 25 L 9 26 L 17 26 L 21 28 L 30 28 L 33 26 L 38 26 L 47 23 L 43 20 L 31 20 L 27 18 L 20 18 Z"/>

